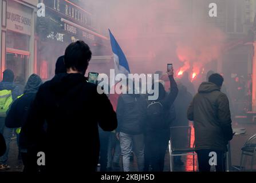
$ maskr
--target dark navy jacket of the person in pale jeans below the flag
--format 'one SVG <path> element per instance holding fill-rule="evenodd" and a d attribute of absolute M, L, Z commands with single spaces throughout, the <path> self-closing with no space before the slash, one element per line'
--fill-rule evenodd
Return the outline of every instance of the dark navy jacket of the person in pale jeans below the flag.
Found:
<path fill-rule="evenodd" d="M 140 94 L 122 94 L 117 102 L 117 132 L 141 134 L 144 130 L 147 101 Z"/>

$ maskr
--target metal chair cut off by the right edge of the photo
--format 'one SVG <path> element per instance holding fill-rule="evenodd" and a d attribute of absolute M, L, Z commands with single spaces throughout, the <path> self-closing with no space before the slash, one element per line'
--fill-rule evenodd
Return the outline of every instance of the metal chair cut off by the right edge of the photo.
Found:
<path fill-rule="evenodd" d="M 251 171 L 253 170 L 254 157 L 256 155 L 256 134 L 250 137 L 243 146 L 241 160 L 240 160 L 240 171 L 245 170 L 246 160 L 245 156 L 251 156 Z"/>

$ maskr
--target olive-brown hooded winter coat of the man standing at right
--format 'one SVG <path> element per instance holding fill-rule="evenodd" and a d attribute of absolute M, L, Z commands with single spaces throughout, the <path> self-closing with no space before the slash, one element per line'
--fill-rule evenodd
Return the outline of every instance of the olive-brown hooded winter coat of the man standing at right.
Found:
<path fill-rule="evenodd" d="M 233 138 L 229 100 L 218 86 L 203 82 L 188 108 L 187 117 L 194 121 L 196 150 L 227 150 L 227 142 Z"/>

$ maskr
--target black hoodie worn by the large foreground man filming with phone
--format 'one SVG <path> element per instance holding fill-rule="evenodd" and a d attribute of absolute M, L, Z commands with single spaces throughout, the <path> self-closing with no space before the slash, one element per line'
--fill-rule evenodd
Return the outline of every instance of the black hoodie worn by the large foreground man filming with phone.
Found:
<path fill-rule="evenodd" d="M 45 121 L 49 172 L 95 170 L 100 145 L 98 122 L 106 131 L 117 127 L 108 97 L 97 93 L 97 86 L 78 73 L 57 74 L 38 90 L 22 128 L 30 148 L 40 144 Z"/>

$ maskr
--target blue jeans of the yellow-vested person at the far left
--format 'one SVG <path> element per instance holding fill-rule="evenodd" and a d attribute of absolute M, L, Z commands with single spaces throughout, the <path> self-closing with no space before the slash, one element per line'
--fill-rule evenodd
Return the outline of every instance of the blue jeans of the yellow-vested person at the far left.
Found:
<path fill-rule="evenodd" d="M 6 164 L 8 160 L 8 154 L 10 149 L 11 135 L 13 134 L 12 128 L 7 128 L 5 126 L 5 118 L 0 117 L 0 132 L 3 134 L 6 143 L 6 152 L 0 157 L 0 164 Z"/>

